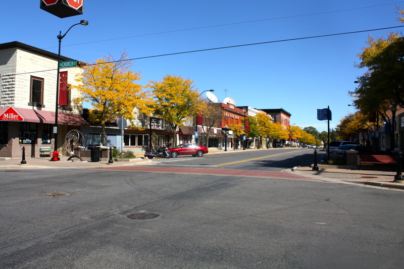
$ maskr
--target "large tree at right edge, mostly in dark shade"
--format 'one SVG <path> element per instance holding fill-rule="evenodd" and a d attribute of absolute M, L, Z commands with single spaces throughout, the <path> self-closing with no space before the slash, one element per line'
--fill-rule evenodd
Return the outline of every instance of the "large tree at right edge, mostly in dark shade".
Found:
<path fill-rule="evenodd" d="M 404 22 L 402 17 L 398 21 Z M 389 33 L 386 38 L 370 36 L 366 44 L 356 67 L 367 70 L 358 78 L 359 87 L 349 94 L 357 98 L 354 104 L 363 114 L 386 116 L 392 105 L 404 107 L 404 37 L 399 33 Z"/>

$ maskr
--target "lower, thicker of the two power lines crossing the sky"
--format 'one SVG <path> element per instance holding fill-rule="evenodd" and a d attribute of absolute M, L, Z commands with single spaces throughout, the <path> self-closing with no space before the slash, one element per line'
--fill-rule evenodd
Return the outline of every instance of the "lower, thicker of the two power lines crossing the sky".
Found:
<path fill-rule="evenodd" d="M 182 51 L 182 52 L 173 52 L 173 53 L 167 53 L 167 54 L 161 54 L 161 55 L 145 56 L 145 57 L 132 58 L 132 59 L 125 59 L 125 60 L 118 60 L 118 61 L 111 61 L 111 62 L 104 62 L 104 63 L 87 64 L 87 66 L 95 66 L 95 65 L 110 64 L 110 63 L 119 63 L 119 62 L 126 62 L 126 61 L 134 61 L 134 60 L 142 60 L 142 59 L 149 59 L 149 58 L 164 57 L 164 56 L 181 55 L 181 54 L 185 54 L 185 53 L 193 53 L 193 52 L 201 52 L 201 51 L 210 51 L 210 50 L 225 49 L 225 48 L 234 48 L 234 47 L 243 47 L 243 46 L 254 46 L 254 45 L 271 44 L 271 43 L 286 42 L 286 41 L 296 41 L 296 40 L 305 40 L 305 39 L 313 39 L 313 38 L 328 37 L 328 36 L 338 36 L 338 35 L 345 35 L 345 34 L 356 34 L 356 33 L 370 32 L 370 31 L 380 31 L 380 30 L 387 30 L 387 29 L 395 29 L 395 28 L 400 28 L 400 27 L 404 27 L 404 25 L 401 25 L 401 26 L 393 26 L 393 27 L 385 27 L 385 28 L 377 28 L 377 29 L 371 29 L 371 30 L 361 30 L 361 31 L 354 31 L 354 32 L 344 32 L 344 33 L 336 33 L 336 34 L 315 35 L 315 36 L 297 37 L 297 38 L 273 40 L 273 41 L 258 42 L 258 43 L 248 43 L 248 44 L 232 45 L 232 46 L 224 46 L 224 47 L 214 47 L 214 48 L 205 48 L 205 49 L 197 49 L 197 50 L 188 50 L 188 51 Z M 45 71 L 54 71 L 54 70 L 57 70 L 57 69 L 49 69 L 49 70 L 43 70 L 43 71 L 34 71 L 34 72 L 27 72 L 27 73 L 19 73 L 19 74 L 15 74 L 15 75 L 31 74 L 31 73 L 38 73 L 38 72 L 45 72 Z"/>

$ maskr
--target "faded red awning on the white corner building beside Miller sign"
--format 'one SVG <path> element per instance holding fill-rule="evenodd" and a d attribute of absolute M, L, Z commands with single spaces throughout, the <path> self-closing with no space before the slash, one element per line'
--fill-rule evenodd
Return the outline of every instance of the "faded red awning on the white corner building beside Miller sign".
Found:
<path fill-rule="evenodd" d="M 35 109 L 21 109 L 20 107 L 13 108 L 18 112 L 18 114 L 21 115 L 24 122 L 55 124 L 55 112 Z M 7 109 L 8 107 L 0 107 L 0 115 L 3 114 Z M 89 125 L 81 115 L 69 113 L 58 113 L 58 124 L 75 126 Z"/>

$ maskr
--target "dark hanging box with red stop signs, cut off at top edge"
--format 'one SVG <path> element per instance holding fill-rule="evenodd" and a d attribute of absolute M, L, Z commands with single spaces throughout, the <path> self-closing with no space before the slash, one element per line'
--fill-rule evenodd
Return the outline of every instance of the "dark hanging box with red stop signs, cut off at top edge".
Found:
<path fill-rule="evenodd" d="M 83 14 L 84 0 L 41 0 L 40 8 L 59 18 Z"/>

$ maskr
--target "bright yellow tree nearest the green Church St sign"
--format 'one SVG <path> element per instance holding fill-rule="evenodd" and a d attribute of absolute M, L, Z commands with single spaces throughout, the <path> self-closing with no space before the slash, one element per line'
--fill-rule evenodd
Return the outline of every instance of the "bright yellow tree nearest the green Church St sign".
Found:
<path fill-rule="evenodd" d="M 135 82 L 140 80 L 140 73 L 131 71 L 132 65 L 124 51 L 119 59 L 110 55 L 85 65 L 83 74 L 76 78 L 79 84 L 74 87 L 82 93 L 76 101 L 91 103 L 90 121 L 102 126 L 103 145 L 107 145 L 107 122 L 115 122 L 118 117 L 131 121 L 135 108 L 140 113 L 150 112 L 151 98 Z"/>

